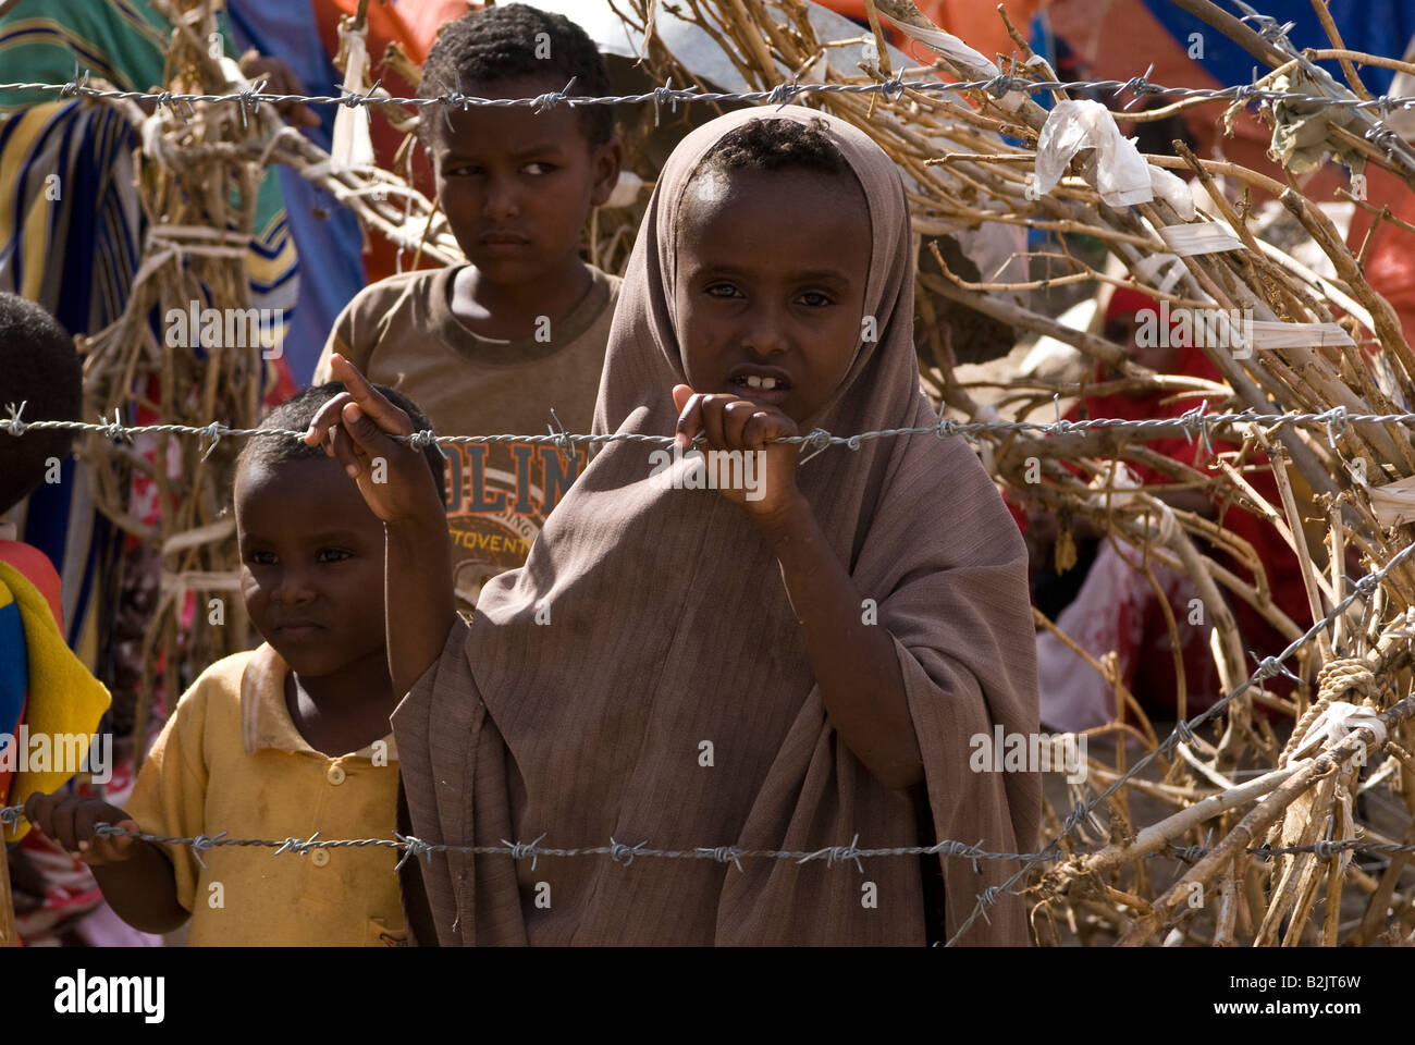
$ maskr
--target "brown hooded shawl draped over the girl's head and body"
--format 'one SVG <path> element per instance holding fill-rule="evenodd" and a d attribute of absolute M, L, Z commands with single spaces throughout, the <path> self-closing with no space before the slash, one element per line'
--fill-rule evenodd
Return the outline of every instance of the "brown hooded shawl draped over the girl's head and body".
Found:
<path fill-rule="evenodd" d="M 747 119 L 825 119 L 873 227 L 865 341 L 807 422 L 849 435 L 927 426 L 914 357 L 913 242 L 899 171 L 860 130 L 799 106 L 734 112 L 674 150 L 638 234 L 596 408 L 596 433 L 672 435 L 678 202 L 689 174 Z M 713 389 L 716 391 L 716 389 Z M 398 707 L 415 834 L 458 845 L 849 845 L 1036 843 L 1040 782 L 975 773 L 969 738 L 1034 732 L 1026 551 L 961 438 L 832 447 L 798 483 L 903 666 L 927 787 L 890 792 L 825 715 L 780 569 L 715 490 L 649 480 L 649 450 L 606 443 L 550 514 L 525 566 L 491 581 L 470 629 Z M 549 613 L 549 623 L 536 623 Z M 712 742 L 712 766 L 700 765 Z M 706 759 L 703 759 L 706 760 Z M 927 792 L 927 793 L 925 793 Z M 921 814 L 921 816 L 920 816 Z M 924 824 L 924 830 L 920 830 Z M 930 830 L 931 828 L 931 830 Z M 798 862 L 607 855 L 464 857 L 424 865 L 443 944 L 923 943 L 921 868 L 942 864 L 952 935 L 1013 862 L 873 857 Z M 877 906 L 865 906 L 873 884 Z M 543 884 L 543 885 L 541 885 Z M 549 903 L 546 908 L 545 905 Z M 935 929 L 937 935 L 937 929 Z M 1027 942 L 1005 896 L 962 943 Z"/>

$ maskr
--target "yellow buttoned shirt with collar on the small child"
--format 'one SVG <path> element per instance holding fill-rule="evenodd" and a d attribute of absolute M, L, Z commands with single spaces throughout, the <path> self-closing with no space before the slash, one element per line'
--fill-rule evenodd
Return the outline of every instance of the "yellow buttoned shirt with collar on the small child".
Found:
<path fill-rule="evenodd" d="M 294 728 L 289 667 L 269 646 L 225 657 L 183 694 L 143 763 L 126 809 L 167 837 L 392 838 L 392 735 L 328 758 Z M 408 939 L 398 851 L 385 847 L 218 845 L 197 861 L 167 845 L 192 946 L 388 946 Z"/>

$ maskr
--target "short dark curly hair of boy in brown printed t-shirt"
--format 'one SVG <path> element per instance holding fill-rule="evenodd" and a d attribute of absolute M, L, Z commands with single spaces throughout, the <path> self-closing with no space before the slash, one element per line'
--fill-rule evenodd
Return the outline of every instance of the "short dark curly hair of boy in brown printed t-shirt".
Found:
<path fill-rule="evenodd" d="M 539 34 L 545 34 L 539 40 Z M 545 54 L 538 54 L 545 47 Z M 562 85 L 574 79 L 574 96 L 610 93 L 604 57 L 589 34 L 563 14 L 529 4 L 498 4 L 470 11 L 447 23 L 423 62 L 419 98 L 441 98 L 454 91 L 474 93 L 473 85 L 521 76 L 553 76 Z M 458 88 L 460 84 L 460 88 Z M 439 106 L 426 106 L 419 135 L 430 146 L 444 125 Z M 576 106 L 590 147 L 614 136 L 614 110 L 608 105 Z"/>

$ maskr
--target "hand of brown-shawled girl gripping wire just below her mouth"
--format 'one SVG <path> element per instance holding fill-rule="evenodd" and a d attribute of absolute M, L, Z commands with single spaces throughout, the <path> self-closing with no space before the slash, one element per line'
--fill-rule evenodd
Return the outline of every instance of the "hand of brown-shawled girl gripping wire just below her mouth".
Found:
<path fill-rule="evenodd" d="M 758 525 L 770 525 L 795 507 L 801 496 L 795 483 L 797 462 L 801 457 L 795 443 L 768 443 L 770 439 L 801 435 L 797 423 L 774 406 L 763 406 L 727 392 L 695 392 L 688 385 L 674 385 L 674 408 L 678 411 L 678 446 L 686 450 L 693 438 L 703 432 L 708 449 L 760 450 L 760 467 L 751 473 L 754 486 L 740 489 L 719 487 L 719 493 L 740 504 Z M 722 474 L 726 470 L 717 470 Z M 709 463 L 709 474 L 713 473 Z M 747 476 L 746 462 L 740 472 Z M 750 496 L 749 496 L 750 494 Z"/>

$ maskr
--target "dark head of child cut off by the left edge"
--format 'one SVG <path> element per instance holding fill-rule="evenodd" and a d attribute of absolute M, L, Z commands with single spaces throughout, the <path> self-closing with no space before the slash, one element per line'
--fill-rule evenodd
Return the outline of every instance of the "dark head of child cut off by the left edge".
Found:
<path fill-rule="evenodd" d="M 0 293 L 0 408 L 14 404 L 20 421 L 78 421 L 83 406 L 83 364 L 74 338 L 44 307 Z M 44 481 L 50 459 L 74 449 L 72 428 L 21 436 L 0 433 L 0 511 L 8 511 Z"/>

